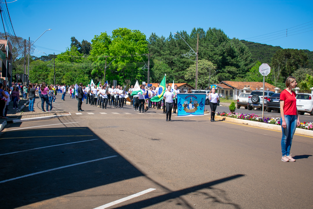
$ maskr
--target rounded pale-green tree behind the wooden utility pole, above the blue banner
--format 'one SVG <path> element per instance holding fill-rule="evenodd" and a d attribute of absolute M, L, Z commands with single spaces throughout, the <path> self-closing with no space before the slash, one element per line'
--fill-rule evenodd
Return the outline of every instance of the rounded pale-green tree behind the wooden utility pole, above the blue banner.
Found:
<path fill-rule="evenodd" d="M 215 72 L 216 66 L 213 65 L 212 62 L 208 60 L 199 60 L 198 61 L 198 88 L 206 88 L 209 85 L 210 80 L 210 70 L 211 75 Z M 195 80 L 196 79 L 196 64 L 191 65 L 187 69 L 187 73 L 185 75 L 185 79 L 187 80 Z M 195 83 L 190 81 L 190 83 Z"/>

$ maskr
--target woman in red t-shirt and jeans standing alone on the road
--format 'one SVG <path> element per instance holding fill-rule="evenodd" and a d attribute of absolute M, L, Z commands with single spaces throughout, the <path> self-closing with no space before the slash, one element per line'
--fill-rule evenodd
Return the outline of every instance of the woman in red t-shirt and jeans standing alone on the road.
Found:
<path fill-rule="evenodd" d="M 283 133 L 281 138 L 281 160 L 295 162 L 295 159 L 290 156 L 290 147 L 295 128 L 300 125 L 296 94 L 292 91 L 297 86 L 297 81 L 295 77 L 289 76 L 285 84 L 287 88 L 280 93 L 280 124 Z"/>

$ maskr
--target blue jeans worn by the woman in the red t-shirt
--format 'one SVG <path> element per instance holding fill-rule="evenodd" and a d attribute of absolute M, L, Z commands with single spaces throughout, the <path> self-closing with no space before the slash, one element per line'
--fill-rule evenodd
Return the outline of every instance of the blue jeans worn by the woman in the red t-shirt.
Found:
<path fill-rule="evenodd" d="M 285 115 L 285 122 L 287 127 L 281 127 L 281 131 L 283 136 L 281 138 L 281 153 L 282 156 L 289 156 L 290 155 L 290 147 L 292 143 L 292 137 L 295 133 L 295 128 L 297 127 L 297 116 L 296 115 Z M 280 118 L 280 124 L 282 120 Z"/>

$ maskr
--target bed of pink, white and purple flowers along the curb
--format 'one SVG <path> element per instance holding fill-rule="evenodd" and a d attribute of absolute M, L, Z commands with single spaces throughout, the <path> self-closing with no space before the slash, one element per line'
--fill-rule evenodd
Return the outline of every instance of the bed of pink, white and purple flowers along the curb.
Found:
<path fill-rule="evenodd" d="M 216 115 L 229 117 L 229 118 L 238 118 L 242 120 L 250 120 L 250 121 L 257 121 L 261 123 L 270 123 L 270 124 L 276 124 L 280 125 L 280 117 L 278 118 L 266 118 L 266 117 L 259 117 L 256 114 L 241 114 L 241 113 L 231 113 L 231 112 L 217 112 Z M 300 123 L 300 126 L 297 128 L 307 129 L 307 130 L 313 130 L 313 123 L 311 122 L 304 122 Z"/>

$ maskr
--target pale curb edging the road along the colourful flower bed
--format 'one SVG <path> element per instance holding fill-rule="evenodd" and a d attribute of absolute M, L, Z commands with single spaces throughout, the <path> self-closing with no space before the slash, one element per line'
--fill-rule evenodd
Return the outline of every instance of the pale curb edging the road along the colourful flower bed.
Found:
<path fill-rule="evenodd" d="M 243 124 L 247 124 L 247 125 L 251 125 L 251 126 L 257 126 L 257 127 L 261 127 L 261 128 L 268 128 L 268 129 L 272 129 L 272 130 L 281 131 L 281 126 L 275 125 L 275 124 L 261 123 L 261 122 L 243 120 L 243 119 L 238 119 L 238 118 L 229 118 L 229 117 L 218 116 L 218 115 L 216 115 L 215 118 L 219 119 L 219 120 L 223 120 L 223 121 L 243 123 Z M 307 135 L 307 136 L 313 136 L 313 131 L 306 130 L 303 128 L 296 128 L 295 133 L 296 134 L 303 134 L 303 135 Z"/>

